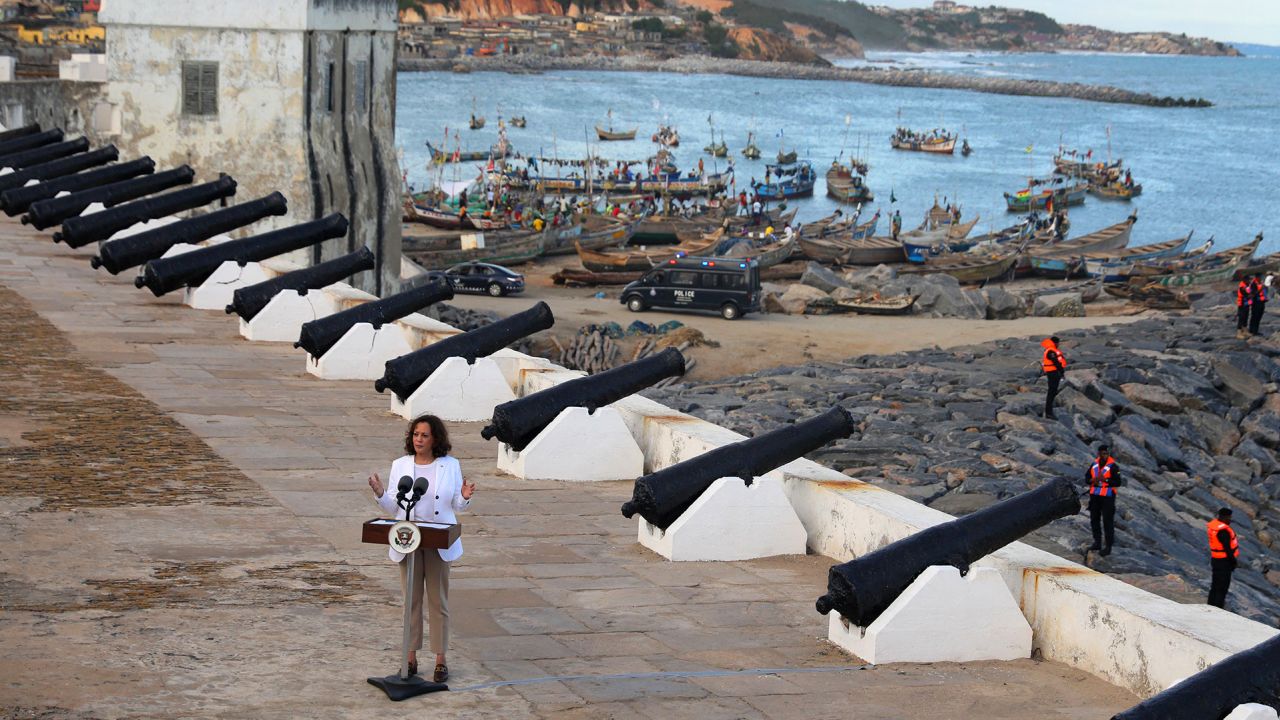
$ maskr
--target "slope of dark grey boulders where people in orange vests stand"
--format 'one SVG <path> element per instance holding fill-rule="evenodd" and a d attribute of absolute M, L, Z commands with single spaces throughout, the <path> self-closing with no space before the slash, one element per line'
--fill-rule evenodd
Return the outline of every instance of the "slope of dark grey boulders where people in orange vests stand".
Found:
<path fill-rule="evenodd" d="M 1204 523 L 1235 510 L 1228 607 L 1280 624 L 1280 342 L 1234 337 L 1234 307 L 1062 332 L 1057 420 L 1039 418 L 1041 338 L 762 370 L 644 395 L 740 433 L 842 405 L 859 433 L 810 459 L 963 515 L 1053 477 L 1084 489 L 1108 441 L 1125 475 L 1116 548 L 1088 552 L 1087 512 L 1027 542 L 1181 602 L 1204 602 Z"/>

